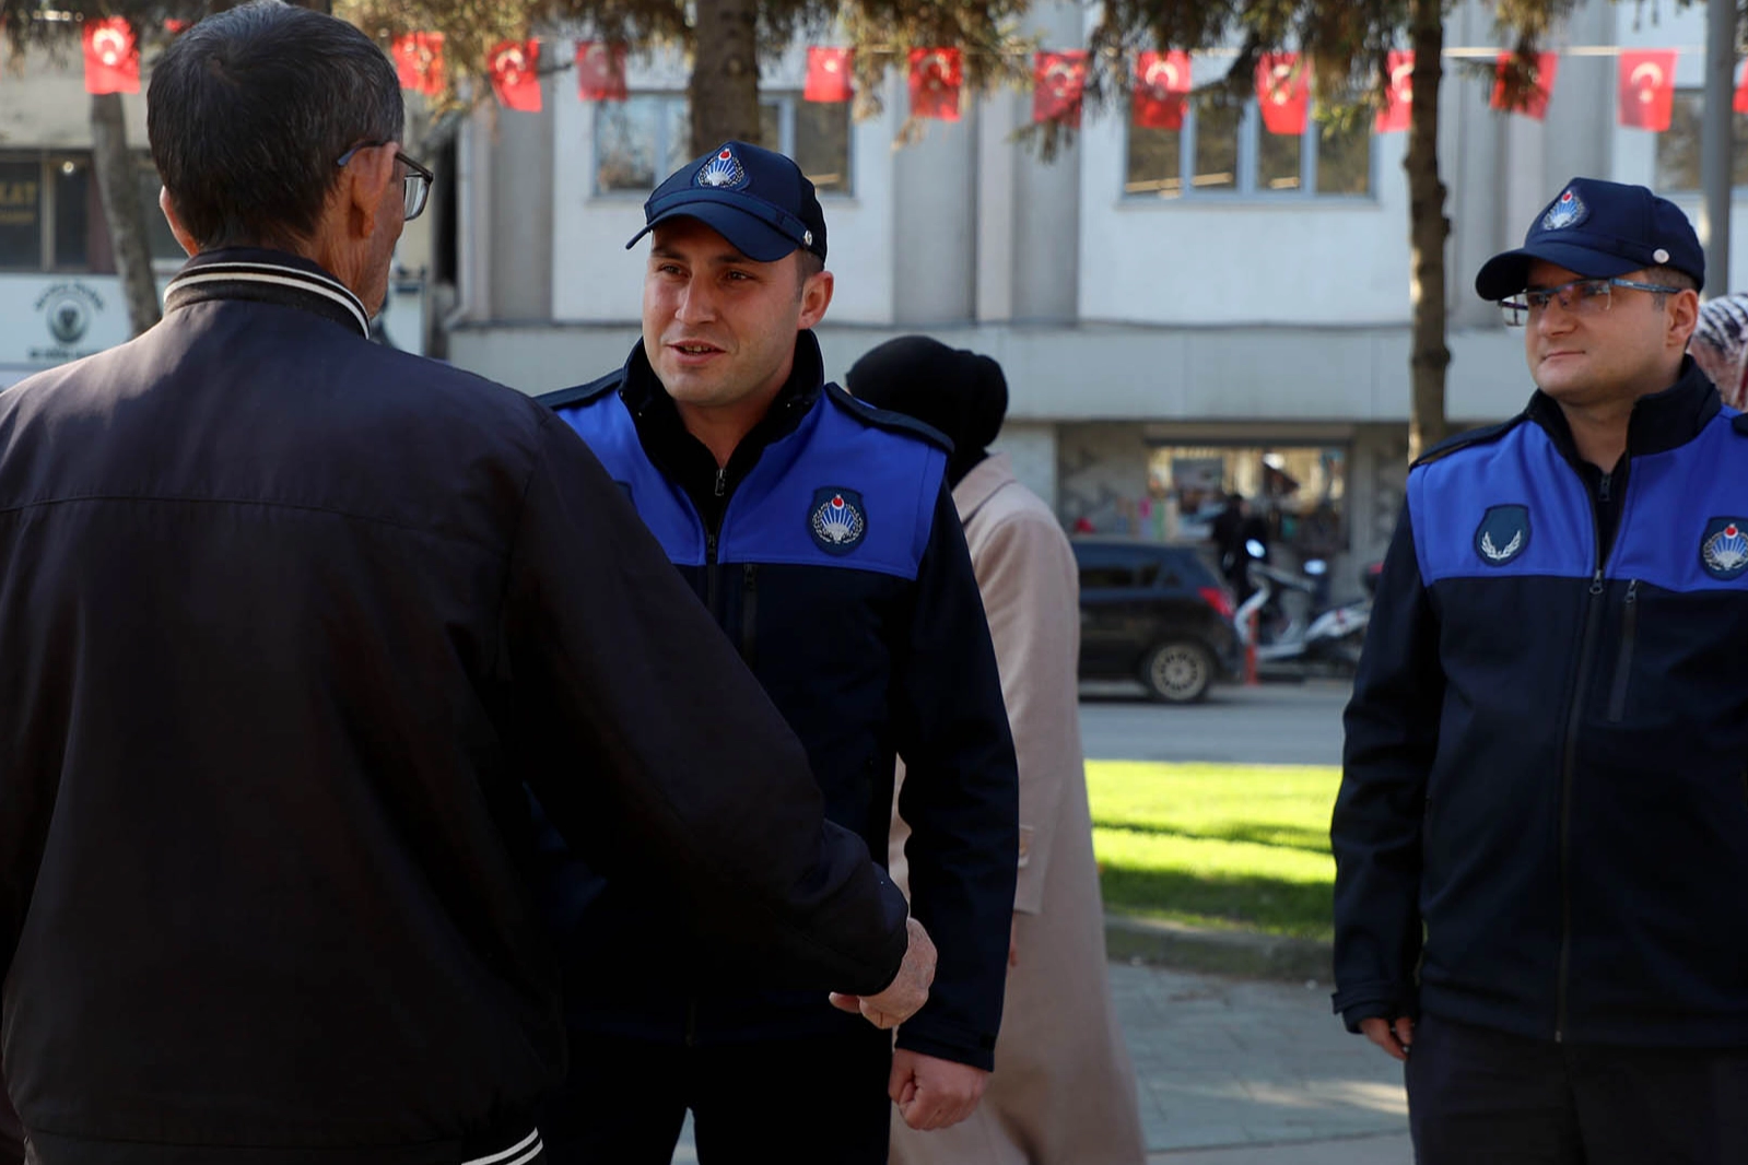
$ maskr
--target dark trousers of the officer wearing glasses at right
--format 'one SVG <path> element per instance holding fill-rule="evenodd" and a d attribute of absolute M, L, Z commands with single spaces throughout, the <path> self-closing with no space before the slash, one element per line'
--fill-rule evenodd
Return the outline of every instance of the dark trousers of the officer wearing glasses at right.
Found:
<path fill-rule="evenodd" d="M 1743 1165 L 1748 1048 L 1573 1046 L 1423 1017 L 1419 1165 Z"/>

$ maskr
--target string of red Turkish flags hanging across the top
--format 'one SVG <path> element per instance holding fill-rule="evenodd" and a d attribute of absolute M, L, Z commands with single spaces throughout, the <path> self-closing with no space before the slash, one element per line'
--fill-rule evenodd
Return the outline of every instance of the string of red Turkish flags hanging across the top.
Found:
<path fill-rule="evenodd" d="M 166 21 L 170 33 L 182 31 L 178 21 Z M 853 49 L 808 47 L 806 101 L 850 101 L 855 98 Z M 542 42 L 505 40 L 486 56 L 486 73 L 503 108 L 538 114 Z M 442 93 L 444 35 L 406 33 L 390 47 L 400 86 L 435 96 Z M 140 45 L 124 17 L 84 23 L 84 58 L 87 93 L 140 93 Z M 1675 108 L 1675 63 L 1678 49 L 1619 51 L 1617 119 L 1633 129 L 1662 133 L 1669 129 Z M 1559 75 L 1559 54 L 1542 52 L 1530 77 L 1530 89 L 1517 108 L 1509 108 L 1507 75 L 1512 54 L 1500 51 L 1495 59 L 1495 86 L 1489 105 L 1496 110 L 1542 121 Z M 1414 54 L 1391 51 L 1390 86 L 1377 110 L 1372 133 L 1402 133 L 1409 128 L 1414 101 Z M 960 49 L 911 49 L 911 117 L 960 121 L 965 89 L 965 58 Z M 598 40 L 577 42 L 577 94 L 584 101 L 624 101 L 626 45 Z M 1086 98 L 1087 54 L 1080 49 L 1045 51 L 1033 58 L 1031 119 L 1080 124 Z M 1183 51 L 1140 52 L 1134 59 L 1129 119 L 1147 129 L 1182 129 L 1190 96 L 1190 54 Z M 1264 128 L 1274 134 L 1302 134 L 1311 114 L 1311 68 L 1295 52 L 1266 54 L 1257 63 L 1257 105 Z M 1739 75 L 1732 108 L 1748 114 L 1748 68 Z"/>

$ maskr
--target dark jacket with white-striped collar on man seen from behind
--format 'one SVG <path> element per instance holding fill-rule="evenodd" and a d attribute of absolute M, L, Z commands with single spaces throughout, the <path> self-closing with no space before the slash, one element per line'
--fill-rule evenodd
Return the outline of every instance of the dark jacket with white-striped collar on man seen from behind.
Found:
<path fill-rule="evenodd" d="M 785 973 L 891 980 L 902 898 L 565 424 L 288 255 L 196 259 L 168 307 L 0 393 L 3 1053 L 44 1162 L 523 1160 L 565 1041 L 524 784 Z"/>

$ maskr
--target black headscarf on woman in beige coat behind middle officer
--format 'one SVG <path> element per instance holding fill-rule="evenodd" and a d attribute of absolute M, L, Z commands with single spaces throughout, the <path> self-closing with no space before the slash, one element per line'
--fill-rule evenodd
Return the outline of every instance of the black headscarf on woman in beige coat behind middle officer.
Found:
<path fill-rule="evenodd" d="M 1007 416 L 1002 365 L 926 335 L 900 335 L 871 349 L 850 369 L 850 391 L 933 426 L 953 442 L 947 484 L 958 486 L 989 456 Z"/>

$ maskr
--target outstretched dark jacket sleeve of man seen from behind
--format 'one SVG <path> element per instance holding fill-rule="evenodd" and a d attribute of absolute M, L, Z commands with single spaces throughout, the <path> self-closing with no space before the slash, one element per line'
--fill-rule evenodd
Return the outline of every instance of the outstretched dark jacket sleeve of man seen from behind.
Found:
<path fill-rule="evenodd" d="M 591 868 L 671 887 L 771 978 L 883 990 L 904 896 L 594 454 L 542 426 L 503 625 L 528 786 Z"/>

